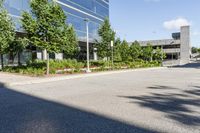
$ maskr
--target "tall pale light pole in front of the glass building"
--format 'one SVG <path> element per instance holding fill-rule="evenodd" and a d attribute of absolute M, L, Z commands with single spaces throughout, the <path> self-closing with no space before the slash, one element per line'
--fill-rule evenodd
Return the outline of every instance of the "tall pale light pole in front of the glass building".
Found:
<path fill-rule="evenodd" d="M 89 19 L 88 18 L 85 18 L 84 21 L 86 22 L 86 32 L 87 32 L 87 39 L 86 39 L 86 42 L 87 42 L 87 70 L 86 72 L 87 73 L 90 73 L 91 70 L 90 70 L 90 49 L 89 49 Z"/>

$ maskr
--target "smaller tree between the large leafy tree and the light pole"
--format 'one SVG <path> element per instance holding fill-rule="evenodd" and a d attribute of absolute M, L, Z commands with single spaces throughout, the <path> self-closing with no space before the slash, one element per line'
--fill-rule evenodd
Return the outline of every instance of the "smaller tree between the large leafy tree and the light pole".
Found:
<path fill-rule="evenodd" d="M 65 26 L 63 30 L 62 50 L 66 57 L 74 58 L 78 52 L 78 40 L 72 25 Z"/>

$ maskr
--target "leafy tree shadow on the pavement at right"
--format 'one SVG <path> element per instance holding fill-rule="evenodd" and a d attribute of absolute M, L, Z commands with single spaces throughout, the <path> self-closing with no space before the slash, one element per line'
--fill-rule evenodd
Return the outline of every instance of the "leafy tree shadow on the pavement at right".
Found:
<path fill-rule="evenodd" d="M 155 88 L 157 87 L 155 86 Z M 148 88 L 154 88 L 154 86 Z M 168 88 L 165 86 L 163 89 L 170 90 L 171 88 L 173 87 Z M 200 90 L 191 89 L 190 91 L 183 91 L 178 89 L 178 92 L 177 90 L 173 92 L 162 92 L 159 90 L 159 93 L 150 93 L 148 95 L 119 97 L 131 99 L 133 100 L 131 103 L 165 113 L 167 118 L 181 124 L 200 126 L 200 115 L 194 116 L 200 110 L 200 98 L 194 97 L 191 94 L 200 96 Z M 195 109 L 191 108 L 191 106 Z"/>

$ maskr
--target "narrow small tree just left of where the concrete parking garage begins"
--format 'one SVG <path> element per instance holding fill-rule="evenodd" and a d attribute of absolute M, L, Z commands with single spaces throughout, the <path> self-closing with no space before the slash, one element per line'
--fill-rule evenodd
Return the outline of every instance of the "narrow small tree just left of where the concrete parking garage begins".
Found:
<path fill-rule="evenodd" d="M 122 61 L 128 61 L 130 57 L 130 49 L 127 41 L 123 41 L 121 46 L 120 46 L 120 55 L 122 58 Z"/>

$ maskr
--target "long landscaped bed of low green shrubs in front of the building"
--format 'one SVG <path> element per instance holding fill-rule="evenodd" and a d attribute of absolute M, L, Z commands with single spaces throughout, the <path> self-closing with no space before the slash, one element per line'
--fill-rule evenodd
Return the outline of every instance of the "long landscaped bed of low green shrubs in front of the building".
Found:
<path fill-rule="evenodd" d="M 127 61 L 127 62 L 114 62 L 110 61 L 91 61 L 90 68 L 92 72 L 109 71 L 109 70 L 121 70 L 121 69 L 136 69 L 147 67 L 159 67 L 161 63 L 157 61 Z M 84 73 L 86 70 L 86 62 L 78 62 L 77 60 L 50 60 L 50 74 L 73 74 Z M 30 76 L 44 76 L 46 74 L 46 62 L 41 60 L 35 60 L 33 62 L 27 62 L 27 65 L 23 66 L 7 66 L 3 72 L 19 73 Z"/>

